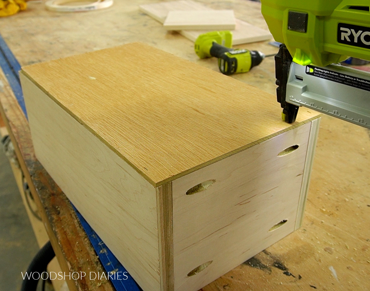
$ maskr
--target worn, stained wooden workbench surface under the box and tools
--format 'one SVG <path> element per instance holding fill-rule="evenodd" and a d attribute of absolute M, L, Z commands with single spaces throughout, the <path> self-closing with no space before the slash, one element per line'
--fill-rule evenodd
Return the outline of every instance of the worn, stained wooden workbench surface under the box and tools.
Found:
<path fill-rule="evenodd" d="M 0 34 L 23 65 L 141 41 L 218 71 L 216 60 L 198 59 L 193 42 L 141 13 L 157 1 L 120 1 L 104 10 L 55 13 L 42 1 L 0 19 Z M 241 20 L 267 28 L 260 4 L 248 0 L 203 0 L 211 8 L 233 9 Z M 239 45 L 265 54 L 267 42 Z M 233 78 L 275 94 L 273 57 Z M 0 75 L 1 115 L 31 184 L 63 271 L 102 271 L 70 203 L 34 157 L 26 119 Z M 3 84 L 3 85 L 2 85 Z M 276 106 L 279 106 L 276 103 Z M 299 113 L 298 113 L 299 114 Z M 263 120 L 261 120 L 263 122 Z M 202 288 L 219 290 L 367 290 L 370 286 L 370 131 L 323 116 L 303 226 L 280 242 Z M 112 290 L 107 281 L 69 282 L 74 290 Z"/>

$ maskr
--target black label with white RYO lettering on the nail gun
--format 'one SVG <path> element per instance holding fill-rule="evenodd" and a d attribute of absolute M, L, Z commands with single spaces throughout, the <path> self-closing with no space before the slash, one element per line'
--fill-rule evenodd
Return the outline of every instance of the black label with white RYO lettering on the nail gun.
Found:
<path fill-rule="evenodd" d="M 370 49 L 370 27 L 339 23 L 337 41 L 341 44 Z"/>

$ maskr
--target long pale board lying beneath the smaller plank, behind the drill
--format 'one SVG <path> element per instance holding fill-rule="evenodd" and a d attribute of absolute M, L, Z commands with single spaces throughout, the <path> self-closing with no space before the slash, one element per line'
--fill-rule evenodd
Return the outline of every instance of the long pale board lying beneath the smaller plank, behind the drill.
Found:
<path fill-rule="evenodd" d="M 173 10 L 212 10 L 200 3 L 191 0 L 178 0 L 140 5 L 140 10 L 160 23 L 164 23 L 169 11 Z M 232 30 L 233 44 L 246 44 L 249 42 L 264 41 L 272 38 L 268 30 L 264 30 L 245 21 L 235 19 L 236 26 Z M 195 41 L 200 34 L 209 30 L 181 30 L 180 33 L 191 41 Z"/>

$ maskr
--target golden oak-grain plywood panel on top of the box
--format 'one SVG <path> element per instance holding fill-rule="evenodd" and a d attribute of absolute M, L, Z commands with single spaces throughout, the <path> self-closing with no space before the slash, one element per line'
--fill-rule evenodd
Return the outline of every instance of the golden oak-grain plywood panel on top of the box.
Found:
<path fill-rule="evenodd" d="M 275 96 L 169 56 L 132 43 L 23 71 L 153 185 L 291 127 Z M 297 123 L 315 116 L 302 109 Z"/>

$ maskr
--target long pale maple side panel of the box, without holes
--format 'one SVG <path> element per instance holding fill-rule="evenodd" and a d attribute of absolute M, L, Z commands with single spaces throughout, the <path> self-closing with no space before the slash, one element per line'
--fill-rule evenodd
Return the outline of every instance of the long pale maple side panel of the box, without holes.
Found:
<path fill-rule="evenodd" d="M 20 73 L 36 157 L 145 291 L 158 291 L 154 186 Z"/>

